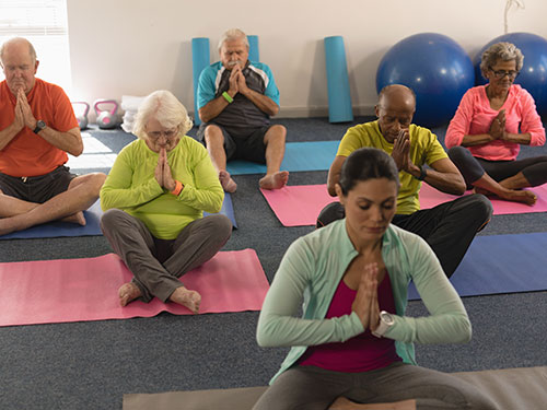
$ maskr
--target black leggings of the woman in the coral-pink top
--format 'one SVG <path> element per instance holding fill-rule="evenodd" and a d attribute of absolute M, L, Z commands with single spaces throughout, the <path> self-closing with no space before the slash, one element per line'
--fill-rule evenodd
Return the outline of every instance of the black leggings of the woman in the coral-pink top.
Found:
<path fill-rule="evenodd" d="M 480 179 L 485 173 L 498 183 L 520 172 L 531 187 L 547 183 L 546 155 L 515 161 L 488 161 L 473 156 L 469 150 L 464 147 L 453 147 L 449 150 L 449 156 L 462 173 L 467 189 L 470 189 L 473 183 Z"/>

